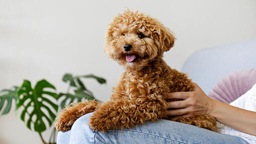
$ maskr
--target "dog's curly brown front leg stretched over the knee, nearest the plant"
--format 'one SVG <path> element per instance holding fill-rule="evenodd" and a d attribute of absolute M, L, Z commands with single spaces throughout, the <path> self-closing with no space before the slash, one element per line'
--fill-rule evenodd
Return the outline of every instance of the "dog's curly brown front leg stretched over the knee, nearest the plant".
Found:
<path fill-rule="evenodd" d="M 70 106 L 64 108 L 59 116 L 55 127 L 58 131 L 68 131 L 71 129 L 72 124 L 76 119 L 84 114 L 93 112 L 101 103 L 92 100 L 86 100 L 84 102 L 72 103 Z"/>

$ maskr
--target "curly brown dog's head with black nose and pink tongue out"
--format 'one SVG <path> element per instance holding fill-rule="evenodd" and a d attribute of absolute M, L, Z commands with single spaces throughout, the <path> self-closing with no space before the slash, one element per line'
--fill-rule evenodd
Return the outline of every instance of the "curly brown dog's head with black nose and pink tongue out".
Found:
<path fill-rule="evenodd" d="M 162 57 L 175 37 L 155 18 L 126 9 L 113 17 L 105 35 L 105 52 L 125 70 L 141 70 L 156 57 Z"/>

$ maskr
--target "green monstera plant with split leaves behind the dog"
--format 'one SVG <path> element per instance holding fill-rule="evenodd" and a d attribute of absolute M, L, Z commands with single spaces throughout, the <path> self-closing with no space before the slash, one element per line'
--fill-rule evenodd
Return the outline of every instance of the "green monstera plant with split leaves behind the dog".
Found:
<path fill-rule="evenodd" d="M 62 80 L 69 83 L 68 89 L 65 93 L 57 93 L 55 86 L 45 79 L 39 80 L 34 88 L 29 80 L 24 80 L 20 87 L 14 86 L 11 89 L 0 91 L 0 111 L 4 108 L 2 115 L 9 113 L 13 105 L 12 102 L 15 100 L 16 109 L 22 109 L 20 118 L 27 127 L 38 132 L 43 143 L 56 143 L 54 127 L 49 142 L 43 138 L 42 132 L 51 127 L 58 111 L 72 102 L 80 102 L 85 99 L 97 100 L 92 92 L 85 87 L 81 78 L 94 78 L 101 84 L 106 83 L 104 78 L 92 74 L 73 76 L 67 73 Z"/>

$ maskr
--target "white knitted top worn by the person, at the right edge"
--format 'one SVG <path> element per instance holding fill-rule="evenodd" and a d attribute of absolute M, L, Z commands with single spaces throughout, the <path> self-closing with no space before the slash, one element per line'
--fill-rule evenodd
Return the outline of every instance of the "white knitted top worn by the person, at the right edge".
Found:
<path fill-rule="evenodd" d="M 230 105 L 243 108 L 250 111 L 256 112 L 256 83 L 243 95 L 235 99 L 233 102 L 229 103 Z M 256 119 L 255 119 L 256 120 Z M 222 123 L 217 122 L 218 133 L 229 134 L 243 138 L 249 143 L 256 143 L 256 136 L 243 133 L 234 128 L 228 127 Z"/>

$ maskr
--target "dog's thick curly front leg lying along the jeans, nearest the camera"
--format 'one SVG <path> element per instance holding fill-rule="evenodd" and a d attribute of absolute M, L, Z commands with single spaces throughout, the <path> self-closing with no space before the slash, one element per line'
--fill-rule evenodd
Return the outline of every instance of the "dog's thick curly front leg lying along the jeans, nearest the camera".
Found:
<path fill-rule="evenodd" d="M 165 106 L 164 102 L 145 98 L 138 98 L 136 101 L 107 101 L 94 111 L 89 119 L 89 126 L 101 132 L 123 127 L 132 128 L 136 124 L 144 124 L 146 120 L 162 118 L 165 115 Z"/>

